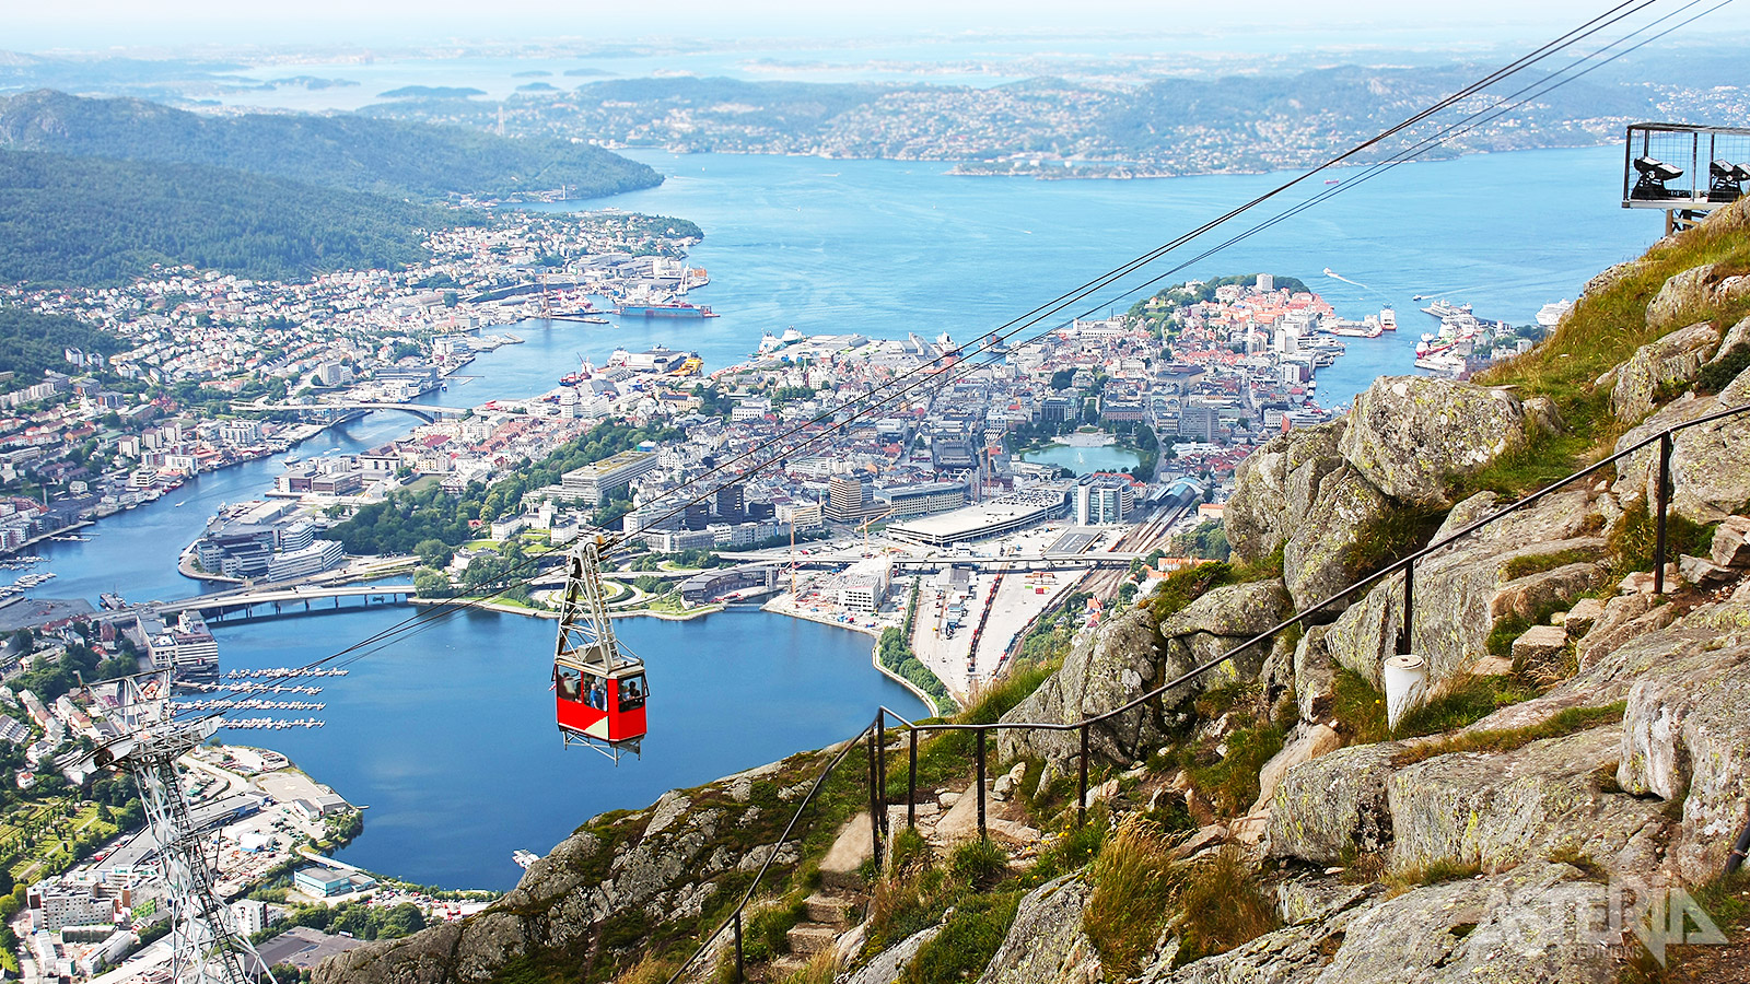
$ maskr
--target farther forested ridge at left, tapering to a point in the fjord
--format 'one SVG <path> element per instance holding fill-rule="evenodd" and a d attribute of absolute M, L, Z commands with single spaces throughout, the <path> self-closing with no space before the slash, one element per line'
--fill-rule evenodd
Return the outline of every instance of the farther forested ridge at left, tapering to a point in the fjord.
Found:
<path fill-rule="evenodd" d="M 558 138 L 362 116 L 200 116 L 52 89 L 0 100 L 0 147 L 236 168 L 322 187 L 443 198 L 570 189 L 593 198 L 662 184 L 653 168 Z"/>

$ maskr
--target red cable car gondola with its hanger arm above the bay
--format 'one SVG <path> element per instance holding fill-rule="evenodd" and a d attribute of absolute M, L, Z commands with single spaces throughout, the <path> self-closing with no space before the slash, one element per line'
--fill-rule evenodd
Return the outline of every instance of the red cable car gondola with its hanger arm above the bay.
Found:
<path fill-rule="evenodd" d="M 649 681 L 644 660 L 621 651 L 602 590 L 602 538 L 581 541 L 565 560 L 558 646 L 553 653 L 555 720 L 565 744 L 583 742 L 620 762 L 644 739 Z"/>

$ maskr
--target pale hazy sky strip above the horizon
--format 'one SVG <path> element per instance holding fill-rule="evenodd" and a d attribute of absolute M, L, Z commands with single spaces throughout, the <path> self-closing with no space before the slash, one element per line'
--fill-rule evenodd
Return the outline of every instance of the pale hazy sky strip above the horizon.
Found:
<path fill-rule="evenodd" d="M 0 0 L 0 51 L 976 30 L 1220 30 L 1239 40 L 1251 25 L 1307 25 L 1321 37 L 1353 28 L 1362 44 L 1428 37 L 1430 28 L 1454 39 L 1510 42 L 1559 33 L 1612 5 L 1610 0 Z M 1670 0 L 1671 9 L 1678 5 Z M 1750 30 L 1750 2 L 1726 7 L 1706 23 L 1712 30 Z"/>

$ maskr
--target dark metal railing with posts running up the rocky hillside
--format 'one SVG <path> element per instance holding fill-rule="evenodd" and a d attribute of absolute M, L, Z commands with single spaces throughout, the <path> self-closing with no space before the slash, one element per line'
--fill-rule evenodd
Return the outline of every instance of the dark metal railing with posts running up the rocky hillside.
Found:
<path fill-rule="evenodd" d="M 1428 546 L 1423 546 L 1421 550 L 1410 553 L 1409 557 L 1395 560 L 1393 564 L 1386 566 L 1384 569 L 1376 571 L 1374 574 L 1368 574 L 1367 578 L 1362 578 L 1360 581 L 1349 585 L 1348 588 L 1342 588 L 1340 592 L 1337 592 L 1337 594 L 1334 594 L 1334 595 L 1320 601 L 1318 604 L 1312 604 L 1306 611 L 1300 611 L 1300 613 L 1297 613 L 1297 615 L 1293 615 L 1290 618 L 1284 618 L 1283 622 L 1278 622 L 1276 625 L 1265 629 L 1264 632 L 1258 632 L 1256 636 L 1246 639 L 1244 643 L 1239 643 L 1237 646 L 1227 650 L 1225 653 L 1222 653 L 1222 655 L 1218 655 L 1218 657 L 1214 657 L 1214 658 L 1211 658 L 1211 660 L 1208 660 L 1208 662 L 1204 662 L 1204 664 L 1200 664 L 1200 665 L 1197 665 L 1197 667 L 1194 667 L 1194 669 L 1180 674 L 1178 678 L 1174 678 L 1174 679 L 1171 679 L 1171 681 L 1167 681 L 1167 683 L 1164 683 L 1164 685 L 1160 685 L 1160 686 L 1157 686 L 1157 688 L 1153 688 L 1153 690 L 1150 690 L 1150 692 L 1146 692 L 1146 693 L 1143 693 L 1139 697 L 1130 699 L 1129 702 L 1125 702 L 1125 704 L 1122 704 L 1118 707 L 1113 707 L 1111 711 L 1104 711 L 1104 713 L 1096 714 L 1092 718 L 1083 718 L 1083 720 L 1073 721 L 1073 723 L 1064 723 L 1064 721 L 992 721 L 992 723 L 910 721 L 903 714 L 892 711 L 891 707 L 882 706 L 875 713 L 875 720 L 868 727 L 864 727 L 861 732 L 858 732 L 858 735 L 854 735 L 852 739 L 849 739 L 845 742 L 845 748 L 842 748 L 838 751 L 838 755 L 833 758 L 833 762 L 828 763 L 828 767 L 821 772 L 819 779 L 816 779 L 816 783 L 814 783 L 814 788 L 808 791 L 808 795 L 803 798 L 803 802 L 796 807 L 796 812 L 794 812 L 794 816 L 791 816 L 791 821 L 784 828 L 784 833 L 779 837 L 777 844 L 772 846 L 772 853 L 766 856 L 765 863 L 760 867 L 760 874 L 754 877 L 754 882 L 742 895 L 740 903 L 735 907 L 735 910 L 730 914 L 728 919 L 724 919 L 709 937 L 705 937 L 704 942 L 700 942 L 698 949 L 693 951 L 693 954 L 686 959 L 686 963 L 682 963 L 674 972 L 674 975 L 668 977 L 668 984 L 676 984 L 681 979 L 681 975 L 693 963 L 696 963 L 700 956 L 704 956 L 710 949 L 710 944 L 716 942 L 716 938 L 721 937 L 723 931 L 730 930 L 730 928 L 733 928 L 733 931 L 735 931 L 735 980 L 737 980 L 737 984 L 740 984 L 742 980 L 746 980 L 746 975 L 744 975 L 744 958 L 742 958 L 742 917 L 744 917 L 744 910 L 747 909 L 747 903 L 752 900 L 754 889 L 760 888 L 760 881 L 765 877 L 766 868 L 772 865 L 772 858 L 777 856 L 779 847 L 784 844 L 784 840 L 789 839 L 789 833 L 796 826 L 796 821 L 802 818 L 803 811 L 808 809 L 808 805 L 814 802 L 816 795 L 819 793 L 821 786 L 826 783 L 828 776 L 831 776 L 831 772 L 835 769 L 838 769 L 838 765 L 850 753 L 850 749 L 856 748 L 858 741 L 864 741 L 866 748 L 868 748 L 870 839 L 872 839 L 870 849 L 872 849 L 872 858 L 875 860 L 875 867 L 880 868 L 880 863 L 882 863 L 882 858 L 884 858 L 884 853 L 886 853 L 886 840 L 889 837 L 889 830 L 887 830 L 887 826 L 889 826 L 889 819 L 887 819 L 887 807 L 889 807 L 889 802 L 887 802 L 887 718 L 889 716 L 896 721 L 898 727 L 903 727 L 906 730 L 906 746 L 908 746 L 906 748 L 906 756 L 908 756 L 906 797 L 905 797 L 905 800 L 906 800 L 905 802 L 905 807 L 906 807 L 906 811 L 905 811 L 906 826 L 917 826 L 917 741 L 919 741 L 919 734 L 924 734 L 924 732 L 973 732 L 975 734 L 975 758 L 976 758 L 976 781 L 975 781 L 975 786 L 978 790 L 978 837 L 980 839 L 987 837 L 987 804 L 985 804 L 985 770 L 987 770 L 987 748 L 989 748 L 987 734 L 989 732 L 1006 732 L 1006 730 L 1078 732 L 1078 737 L 1080 737 L 1080 755 L 1078 755 L 1078 762 L 1076 762 L 1076 825 L 1080 826 L 1080 825 L 1087 823 L 1087 809 L 1088 809 L 1088 758 L 1090 758 L 1090 755 L 1088 755 L 1088 744 L 1090 744 L 1092 728 L 1096 725 L 1102 725 L 1106 721 L 1111 721 L 1113 718 L 1118 718 L 1120 714 L 1127 714 L 1130 711 L 1136 711 L 1138 707 L 1148 704 L 1150 700 L 1155 700 L 1155 699 L 1166 695 L 1167 692 L 1174 690 L 1176 686 L 1185 686 L 1186 683 L 1192 683 L 1194 679 L 1200 678 L 1202 674 L 1206 674 L 1206 672 L 1220 667 L 1222 664 L 1227 664 L 1234 657 L 1244 653 L 1251 646 L 1272 641 L 1284 629 L 1290 629 L 1293 625 L 1302 625 L 1304 622 L 1307 622 L 1309 618 L 1312 618 L 1320 611 L 1326 609 L 1334 602 L 1342 601 L 1342 599 L 1351 597 L 1351 595 L 1360 595 L 1367 588 L 1372 588 L 1374 585 L 1384 581 L 1386 578 L 1390 578 L 1390 576 L 1393 576 L 1393 574 L 1396 574 L 1400 571 L 1404 573 L 1404 627 L 1398 632 L 1398 651 L 1400 653 L 1410 651 L 1410 643 L 1414 641 L 1412 639 L 1412 625 L 1414 625 L 1414 601 L 1416 601 L 1414 599 L 1414 583 L 1416 583 L 1414 581 L 1414 569 L 1416 569 L 1416 562 L 1418 560 L 1423 560 L 1428 555 L 1435 553 L 1437 550 L 1451 546 L 1452 543 L 1456 543 L 1456 541 L 1460 541 L 1460 539 L 1463 539 L 1463 538 L 1466 538 L 1466 536 L 1470 536 L 1470 534 L 1474 534 L 1474 532 L 1477 532 L 1477 531 L 1480 531 L 1484 527 L 1489 527 L 1489 525 L 1493 525 L 1493 524 L 1496 524 L 1496 522 L 1500 522 L 1500 520 L 1503 520 L 1503 518 L 1507 518 L 1507 517 L 1510 517 L 1510 515 L 1514 515 L 1514 513 L 1517 513 L 1521 510 L 1526 510 L 1531 504 L 1540 503 L 1542 499 L 1545 499 L 1545 497 L 1559 492 L 1561 488 L 1572 485 L 1573 481 L 1578 481 L 1578 480 L 1582 480 L 1582 478 L 1586 478 L 1586 476 L 1589 476 L 1589 474 L 1603 469 L 1605 466 L 1610 466 L 1610 464 L 1615 464 L 1615 462 L 1619 462 L 1622 459 L 1628 459 L 1628 457 L 1634 455 L 1636 452 L 1642 452 L 1642 450 L 1645 450 L 1645 448 L 1648 448 L 1652 445 L 1659 445 L 1659 466 L 1657 466 L 1659 467 L 1659 480 L 1657 480 L 1657 490 L 1656 490 L 1656 506 L 1657 506 L 1656 522 L 1657 522 L 1657 525 L 1656 525 L 1656 534 L 1654 534 L 1654 571 L 1652 571 L 1652 576 L 1654 576 L 1654 594 L 1664 594 L 1664 566 L 1666 566 L 1666 548 L 1668 548 L 1666 522 L 1668 522 L 1670 506 L 1671 506 L 1671 450 L 1673 450 L 1673 436 L 1676 432 L 1680 432 L 1680 431 L 1687 431 L 1690 427 L 1699 427 L 1703 424 L 1712 424 L 1715 420 L 1724 420 L 1727 417 L 1736 417 L 1740 413 L 1750 413 L 1750 404 L 1732 406 L 1732 408 L 1727 408 L 1727 410 L 1718 410 L 1718 411 L 1698 417 L 1694 420 L 1687 420 L 1684 424 L 1676 424 L 1673 427 L 1666 427 L 1664 431 L 1659 431 L 1656 434 L 1650 434 L 1650 436 L 1643 438 L 1642 441 L 1636 441 L 1634 445 L 1631 445 L 1626 450 L 1620 450 L 1620 452 L 1617 452 L 1617 453 L 1614 453 L 1614 455 L 1610 455 L 1606 459 L 1592 462 L 1592 464 L 1582 467 L 1580 471 L 1575 471 L 1573 474 L 1568 474 L 1566 478 L 1559 478 L 1559 480 L 1545 485 L 1544 488 L 1538 488 L 1536 492 L 1533 492 L 1533 494 L 1530 494 L 1530 496 L 1526 496 L 1526 497 L 1522 497 L 1522 499 L 1519 499 L 1519 501 L 1516 501 L 1516 503 L 1512 503 L 1512 504 L 1508 504 L 1508 506 L 1505 506 L 1502 510 L 1496 510 L 1496 511 L 1489 513 L 1488 517 L 1482 517 L 1480 520 L 1477 520 L 1477 522 L 1474 522 L 1470 525 L 1465 525 L 1465 527 L 1461 527 L 1461 529 L 1458 529 L 1458 531 L 1454 531 L 1454 532 L 1451 532 L 1451 534 L 1447 534 L 1447 536 L 1444 536 L 1444 538 L 1430 543 Z M 1750 851 L 1750 828 L 1745 830 L 1745 837 L 1740 839 L 1740 844 L 1734 847 L 1732 854 L 1729 854 L 1727 872 L 1734 870 L 1736 865 L 1743 863 L 1745 851 Z"/>

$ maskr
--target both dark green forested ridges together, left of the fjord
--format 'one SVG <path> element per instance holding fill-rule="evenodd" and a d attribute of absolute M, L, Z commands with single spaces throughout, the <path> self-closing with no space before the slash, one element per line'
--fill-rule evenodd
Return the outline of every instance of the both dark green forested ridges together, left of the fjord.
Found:
<path fill-rule="evenodd" d="M 250 278 L 397 268 L 481 221 L 457 196 L 662 182 L 569 140 L 355 116 L 198 116 L 37 91 L 0 100 L 0 282 L 108 285 L 152 264 Z"/>

